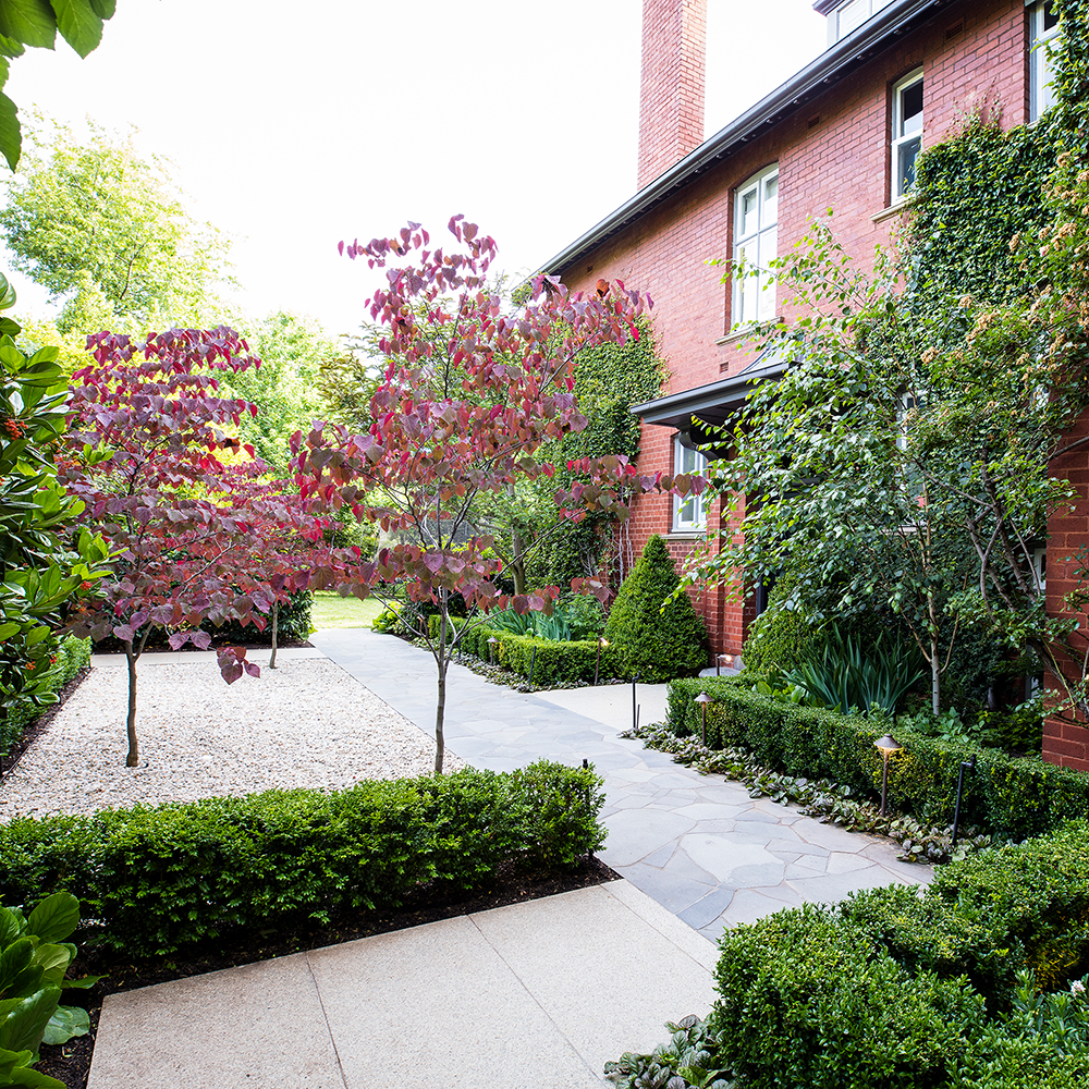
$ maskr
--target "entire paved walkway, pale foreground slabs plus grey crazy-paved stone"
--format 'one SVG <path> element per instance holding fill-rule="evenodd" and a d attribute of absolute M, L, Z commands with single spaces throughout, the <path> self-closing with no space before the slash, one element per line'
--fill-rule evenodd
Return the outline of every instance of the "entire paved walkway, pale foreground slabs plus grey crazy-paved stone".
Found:
<path fill-rule="evenodd" d="M 426 651 L 364 629 L 311 641 L 432 733 Z M 664 685 L 637 698 L 664 717 Z M 607 1061 L 706 1015 L 724 927 L 929 880 L 885 841 L 620 738 L 631 721 L 629 686 L 521 695 L 452 666 L 448 748 L 497 771 L 591 761 L 602 858 L 626 880 L 110 995 L 88 1089 L 600 1089 Z"/>

